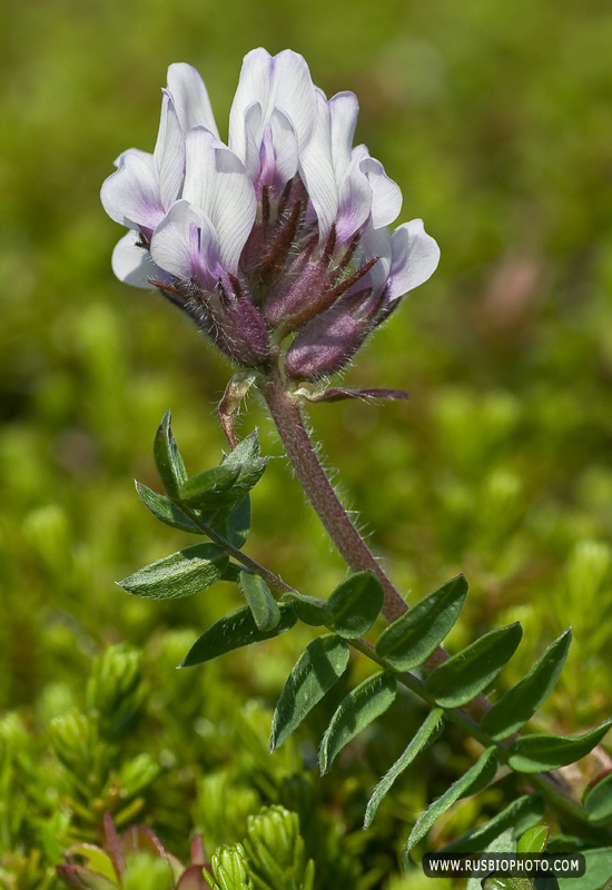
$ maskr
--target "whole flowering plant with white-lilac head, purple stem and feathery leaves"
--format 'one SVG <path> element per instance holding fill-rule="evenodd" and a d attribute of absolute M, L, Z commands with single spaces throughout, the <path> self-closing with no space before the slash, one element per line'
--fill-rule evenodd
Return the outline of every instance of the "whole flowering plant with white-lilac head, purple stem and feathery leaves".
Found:
<path fill-rule="evenodd" d="M 482 753 L 416 819 L 406 862 L 455 801 L 509 770 L 524 774 L 524 793 L 456 849 L 483 849 L 509 829 L 524 831 L 546 804 L 565 830 L 586 839 L 581 843 L 606 846 L 612 805 L 602 801 L 610 799 L 610 777 L 579 803 L 554 771 L 598 745 L 611 721 L 576 738 L 521 734 L 556 682 L 570 632 L 492 705 L 484 691 L 519 646 L 520 624 L 495 629 L 450 657 L 442 643 L 464 603 L 465 578 L 448 581 L 408 611 L 338 500 L 306 429 L 307 400 L 404 396 L 329 386 L 328 378 L 407 291 L 430 278 L 440 256 L 419 219 L 389 230 L 402 195 L 365 146 L 353 147 L 357 108 L 351 92 L 327 100 L 295 52 L 270 57 L 257 49 L 244 61 L 225 145 L 201 78 L 188 65 L 172 65 L 152 155 L 129 149 L 103 184 L 107 212 L 129 229 L 112 256 L 117 276 L 159 290 L 238 366 L 219 404 L 230 451 L 218 466 L 188 476 L 168 414 L 155 439 L 165 494 L 138 485 L 161 522 L 210 543 L 160 560 L 122 586 L 145 597 L 181 597 L 219 580 L 240 585 L 248 604 L 208 629 L 182 666 L 269 640 L 297 622 L 323 631 L 280 694 L 273 750 L 342 676 L 351 650 L 369 659 L 375 671 L 344 699 L 322 740 L 323 771 L 392 706 L 398 685 L 419 696 L 428 716 L 376 787 L 366 825 L 446 722 L 474 739 Z M 266 468 L 257 434 L 238 442 L 234 428 L 234 413 L 251 387 L 267 403 L 295 473 L 349 568 L 326 600 L 294 590 L 243 551 L 249 491 Z M 379 616 L 386 624 L 374 629 Z"/>

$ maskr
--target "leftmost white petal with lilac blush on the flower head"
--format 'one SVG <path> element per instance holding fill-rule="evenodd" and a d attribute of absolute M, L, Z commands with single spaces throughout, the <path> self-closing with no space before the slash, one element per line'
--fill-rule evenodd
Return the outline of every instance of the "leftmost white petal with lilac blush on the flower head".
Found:
<path fill-rule="evenodd" d="M 164 208 L 152 155 L 124 152 L 119 169 L 102 184 L 102 206 L 109 217 L 129 228 L 155 229 Z"/>

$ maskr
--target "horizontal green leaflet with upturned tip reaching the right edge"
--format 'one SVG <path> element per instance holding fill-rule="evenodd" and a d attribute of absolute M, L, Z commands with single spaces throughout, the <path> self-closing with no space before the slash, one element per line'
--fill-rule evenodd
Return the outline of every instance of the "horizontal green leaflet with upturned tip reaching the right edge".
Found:
<path fill-rule="evenodd" d="M 580 760 L 601 742 L 612 725 L 604 720 L 584 735 L 523 735 L 509 746 L 509 764 L 517 772 L 546 772 Z"/>

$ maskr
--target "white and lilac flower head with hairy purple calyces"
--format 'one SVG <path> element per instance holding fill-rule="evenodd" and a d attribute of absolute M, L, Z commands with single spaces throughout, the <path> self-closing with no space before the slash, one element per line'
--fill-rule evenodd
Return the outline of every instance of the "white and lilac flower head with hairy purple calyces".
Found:
<path fill-rule="evenodd" d="M 302 56 L 256 49 L 226 146 L 197 71 L 170 66 L 154 154 L 128 149 L 102 186 L 129 228 L 117 276 L 158 288 L 243 366 L 342 368 L 440 257 L 421 220 L 391 234 L 402 194 L 353 147 L 357 111 L 352 92 L 327 101 Z"/>

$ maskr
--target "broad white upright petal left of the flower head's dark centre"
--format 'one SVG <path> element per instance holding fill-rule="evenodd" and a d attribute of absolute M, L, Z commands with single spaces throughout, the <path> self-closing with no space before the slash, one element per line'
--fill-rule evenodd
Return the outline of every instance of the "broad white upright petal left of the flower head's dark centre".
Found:
<path fill-rule="evenodd" d="M 236 274 L 255 222 L 257 200 L 243 161 L 201 127 L 187 135 L 184 197 L 209 217 L 225 269 Z"/>

